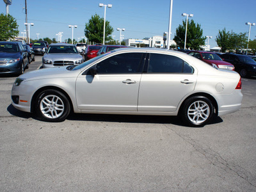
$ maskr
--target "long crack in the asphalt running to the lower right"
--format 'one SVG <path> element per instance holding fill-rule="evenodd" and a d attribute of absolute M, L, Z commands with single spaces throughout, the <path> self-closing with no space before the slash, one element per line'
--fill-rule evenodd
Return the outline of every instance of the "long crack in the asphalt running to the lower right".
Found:
<path fill-rule="evenodd" d="M 197 152 L 200 152 L 200 154 L 202 154 L 208 161 L 210 161 L 212 165 L 214 165 L 218 168 L 221 168 L 225 172 L 235 173 L 237 176 L 241 177 L 241 179 L 246 180 L 246 182 L 248 182 L 251 186 L 256 188 L 256 178 L 253 177 L 251 172 L 248 172 L 247 170 L 245 170 L 244 168 L 242 168 L 241 166 L 239 166 L 237 164 L 228 163 L 228 161 L 223 159 L 223 157 L 221 157 L 220 154 L 218 154 L 218 152 L 212 150 L 207 145 L 201 145 L 200 143 L 198 143 L 198 141 L 193 140 L 189 136 L 184 135 L 184 134 L 179 134 L 179 132 L 174 131 L 172 128 L 168 127 L 167 125 L 166 125 L 166 127 L 168 129 L 171 129 L 173 132 L 175 132 L 175 134 L 177 134 L 184 141 L 191 144 L 192 147 L 195 148 L 195 150 Z M 223 177 L 221 177 L 221 178 L 223 178 Z M 191 183 L 189 183 L 189 184 L 191 184 Z"/>

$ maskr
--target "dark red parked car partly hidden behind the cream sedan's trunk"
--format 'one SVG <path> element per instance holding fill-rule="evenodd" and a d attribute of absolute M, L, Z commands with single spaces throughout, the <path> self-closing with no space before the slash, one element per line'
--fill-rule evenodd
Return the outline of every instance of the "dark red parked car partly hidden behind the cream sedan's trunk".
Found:
<path fill-rule="evenodd" d="M 234 70 L 234 65 L 221 60 L 220 56 L 218 56 L 214 52 L 207 52 L 207 51 L 189 51 L 189 55 L 194 56 L 195 58 L 198 58 L 199 60 L 205 61 L 205 63 L 208 63 L 209 65 L 212 65 L 212 67 L 216 68 L 224 68 L 228 70 Z"/>

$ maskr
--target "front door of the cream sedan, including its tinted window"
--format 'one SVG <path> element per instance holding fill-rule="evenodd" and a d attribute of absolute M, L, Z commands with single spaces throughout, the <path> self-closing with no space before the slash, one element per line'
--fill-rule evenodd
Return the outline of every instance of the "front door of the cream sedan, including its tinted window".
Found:
<path fill-rule="evenodd" d="M 145 55 L 145 54 L 144 54 Z M 82 111 L 137 111 L 142 52 L 116 54 L 77 77 L 77 108 Z"/>

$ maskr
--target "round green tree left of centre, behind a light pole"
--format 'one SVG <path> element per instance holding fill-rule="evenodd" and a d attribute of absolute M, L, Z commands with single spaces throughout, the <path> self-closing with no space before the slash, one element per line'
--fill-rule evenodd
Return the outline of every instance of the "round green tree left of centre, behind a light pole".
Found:
<path fill-rule="evenodd" d="M 103 42 L 103 26 L 104 19 L 100 18 L 99 15 L 92 15 L 92 18 L 88 23 L 85 24 L 84 35 L 88 38 L 88 41 L 95 42 L 96 44 L 102 44 Z M 111 40 L 111 33 L 114 29 L 110 26 L 109 21 L 106 20 L 105 26 L 105 41 Z"/>

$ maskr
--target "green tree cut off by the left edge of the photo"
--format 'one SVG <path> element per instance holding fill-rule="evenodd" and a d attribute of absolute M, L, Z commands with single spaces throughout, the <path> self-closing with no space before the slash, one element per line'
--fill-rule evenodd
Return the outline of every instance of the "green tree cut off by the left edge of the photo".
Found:
<path fill-rule="evenodd" d="M 0 41 L 15 38 L 19 35 L 18 24 L 12 15 L 0 14 Z"/>

